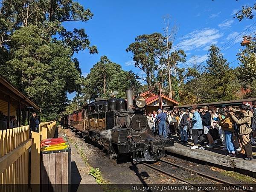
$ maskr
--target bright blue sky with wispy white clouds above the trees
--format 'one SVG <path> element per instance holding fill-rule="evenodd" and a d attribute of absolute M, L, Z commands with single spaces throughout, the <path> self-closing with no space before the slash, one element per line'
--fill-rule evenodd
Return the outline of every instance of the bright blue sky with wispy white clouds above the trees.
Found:
<path fill-rule="evenodd" d="M 64 23 L 68 30 L 85 28 L 91 45 L 96 45 L 99 54 L 90 55 L 88 51 L 75 54 L 80 62 L 82 74 L 90 73 L 90 68 L 106 55 L 112 62 L 122 65 L 126 71 L 135 68 L 131 53 L 125 51 L 141 34 L 163 33 L 163 17 L 169 15 L 172 24 L 179 29 L 174 46 L 182 48 L 187 55 L 188 66 L 191 56 L 205 61 L 209 45 L 221 48 L 230 66 L 236 67 L 243 35 L 256 31 L 256 21 L 234 19 L 234 14 L 242 6 L 252 6 L 256 0 L 79 0 L 84 8 L 89 8 L 94 16 L 87 23 Z M 249 28 L 250 27 L 250 28 Z M 235 38 L 236 37 L 236 38 Z M 235 38 L 235 39 L 234 39 Z M 231 40 L 231 41 L 230 41 Z M 229 42 L 230 41 L 230 42 Z M 227 44 L 228 42 L 228 44 Z M 72 99 L 74 93 L 68 94 Z"/>

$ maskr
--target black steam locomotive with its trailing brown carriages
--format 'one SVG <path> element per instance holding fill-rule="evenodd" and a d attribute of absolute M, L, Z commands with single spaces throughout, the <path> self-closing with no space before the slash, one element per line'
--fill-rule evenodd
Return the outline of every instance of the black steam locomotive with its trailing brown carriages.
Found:
<path fill-rule="evenodd" d="M 156 161 L 165 155 L 164 147 L 174 145 L 172 138 L 155 138 L 145 115 L 145 99 L 126 90 L 127 101 L 111 98 L 96 100 L 61 118 L 109 154 L 130 154 L 133 161 Z"/>

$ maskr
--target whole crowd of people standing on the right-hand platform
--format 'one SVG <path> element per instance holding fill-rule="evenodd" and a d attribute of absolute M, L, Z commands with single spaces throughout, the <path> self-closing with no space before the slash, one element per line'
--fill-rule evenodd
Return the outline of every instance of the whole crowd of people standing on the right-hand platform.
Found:
<path fill-rule="evenodd" d="M 221 106 L 210 110 L 196 105 L 189 109 L 157 110 L 147 114 L 148 125 L 154 136 L 180 137 L 180 143 L 193 142 L 191 149 L 214 147 L 221 141 L 227 155 L 236 157 L 241 153 L 244 160 L 253 159 L 252 146 L 256 144 L 256 102 L 253 106 Z M 200 147 L 198 146 L 200 141 Z M 209 144 L 205 144 L 206 141 Z"/>

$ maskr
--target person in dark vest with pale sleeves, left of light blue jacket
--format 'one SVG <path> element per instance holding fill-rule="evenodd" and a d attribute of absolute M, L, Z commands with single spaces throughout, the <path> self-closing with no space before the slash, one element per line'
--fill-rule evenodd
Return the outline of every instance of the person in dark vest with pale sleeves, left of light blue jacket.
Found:
<path fill-rule="evenodd" d="M 178 126 L 180 127 L 180 143 L 188 143 L 188 135 L 187 135 L 187 127 L 188 127 L 188 116 L 186 114 L 186 110 L 184 108 L 181 108 L 180 110 L 181 115 L 179 119 Z"/>

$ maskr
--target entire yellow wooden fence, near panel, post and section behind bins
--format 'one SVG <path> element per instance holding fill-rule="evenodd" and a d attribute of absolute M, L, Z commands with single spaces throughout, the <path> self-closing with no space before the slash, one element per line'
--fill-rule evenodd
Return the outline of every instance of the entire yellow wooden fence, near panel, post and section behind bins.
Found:
<path fill-rule="evenodd" d="M 41 123 L 40 133 L 32 132 L 31 138 L 29 126 L 0 130 L 0 191 L 27 191 L 29 183 L 40 184 L 40 141 L 53 138 L 55 127 L 56 121 Z M 24 185 L 15 190 L 18 184 Z"/>

